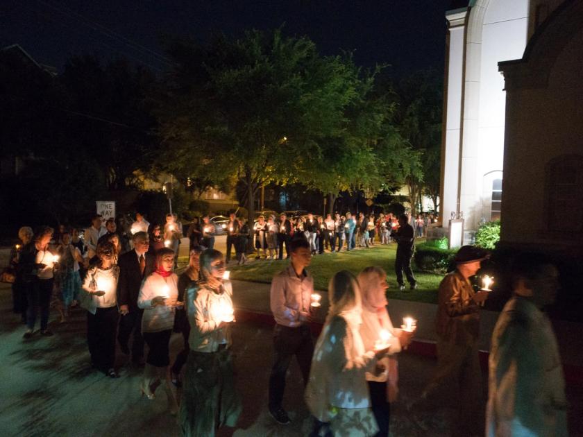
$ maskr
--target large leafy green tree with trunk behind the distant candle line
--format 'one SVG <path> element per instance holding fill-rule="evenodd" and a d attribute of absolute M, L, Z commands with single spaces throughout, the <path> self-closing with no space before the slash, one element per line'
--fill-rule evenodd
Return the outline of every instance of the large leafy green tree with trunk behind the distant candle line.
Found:
<path fill-rule="evenodd" d="M 213 182 L 234 176 L 251 223 L 257 189 L 305 175 L 359 96 L 353 64 L 322 58 L 307 37 L 280 29 L 219 35 L 207 46 L 173 40 L 168 51 L 176 67 L 156 112 L 164 165 Z"/>

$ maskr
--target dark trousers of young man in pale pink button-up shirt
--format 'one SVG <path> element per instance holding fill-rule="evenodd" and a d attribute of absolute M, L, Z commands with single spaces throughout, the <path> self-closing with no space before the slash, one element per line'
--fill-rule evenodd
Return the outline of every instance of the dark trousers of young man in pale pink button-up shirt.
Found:
<path fill-rule="evenodd" d="M 310 327 L 287 327 L 276 325 L 273 328 L 274 360 L 269 377 L 269 408 L 280 408 L 285 391 L 285 374 L 292 357 L 296 356 L 302 372 L 304 386 L 310 377 L 310 366 L 314 354 L 314 342 Z"/>

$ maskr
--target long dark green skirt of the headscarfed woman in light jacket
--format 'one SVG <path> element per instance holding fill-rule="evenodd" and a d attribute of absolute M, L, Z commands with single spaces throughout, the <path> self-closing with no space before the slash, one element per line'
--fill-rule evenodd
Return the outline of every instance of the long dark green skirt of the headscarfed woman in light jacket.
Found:
<path fill-rule="evenodd" d="M 214 436 L 217 427 L 234 427 L 241 413 L 230 350 L 195 352 L 186 362 L 180 428 L 183 436 Z"/>

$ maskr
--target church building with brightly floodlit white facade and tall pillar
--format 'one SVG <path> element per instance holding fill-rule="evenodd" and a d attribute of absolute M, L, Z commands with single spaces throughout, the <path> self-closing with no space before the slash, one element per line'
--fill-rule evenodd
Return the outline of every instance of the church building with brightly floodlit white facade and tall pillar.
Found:
<path fill-rule="evenodd" d="M 564 248 L 583 224 L 583 1 L 455 1 L 446 13 L 441 216 L 466 237 Z"/>

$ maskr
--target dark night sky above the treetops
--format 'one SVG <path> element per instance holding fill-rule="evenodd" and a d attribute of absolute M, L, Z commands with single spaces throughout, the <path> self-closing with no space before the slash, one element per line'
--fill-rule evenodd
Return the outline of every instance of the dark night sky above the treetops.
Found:
<path fill-rule="evenodd" d="M 354 50 L 359 65 L 387 63 L 396 76 L 443 70 L 451 0 L 203 1 L 2 0 L 0 45 L 20 44 L 35 60 L 57 67 L 71 55 L 123 55 L 155 71 L 167 68 L 164 34 L 208 40 L 222 31 L 269 29 L 307 35 L 324 55 Z"/>

